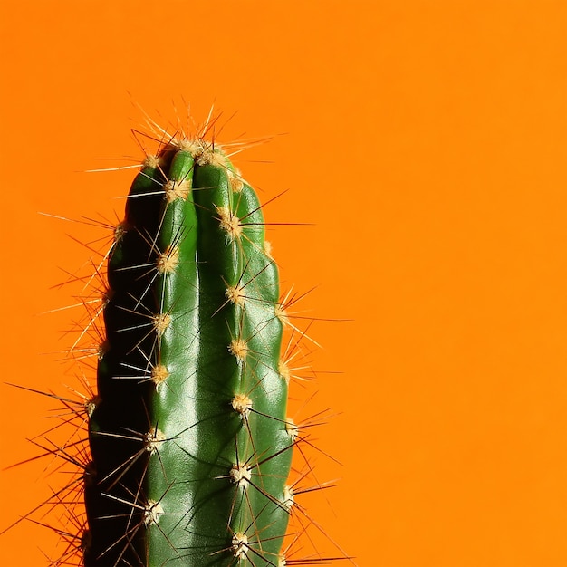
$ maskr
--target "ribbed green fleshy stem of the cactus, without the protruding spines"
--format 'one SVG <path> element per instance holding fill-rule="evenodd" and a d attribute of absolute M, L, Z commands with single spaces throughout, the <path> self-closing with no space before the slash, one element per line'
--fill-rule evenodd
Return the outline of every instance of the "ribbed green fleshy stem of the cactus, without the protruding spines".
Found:
<path fill-rule="evenodd" d="M 255 191 L 199 143 L 200 155 L 168 145 L 142 168 L 109 257 L 86 567 L 277 566 L 282 553 L 294 439 L 277 268 Z M 167 198 L 171 186 L 185 193 Z M 223 211 L 240 219 L 235 233 Z M 237 410 L 237 395 L 252 407 Z"/>

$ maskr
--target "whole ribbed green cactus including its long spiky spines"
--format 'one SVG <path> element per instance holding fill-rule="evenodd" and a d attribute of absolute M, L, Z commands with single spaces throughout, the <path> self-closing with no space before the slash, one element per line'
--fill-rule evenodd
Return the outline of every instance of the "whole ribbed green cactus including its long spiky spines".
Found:
<path fill-rule="evenodd" d="M 290 378 L 310 378 L 309 337 L 288 312 L 301 296 L 280 299 L 258 197 L 205 138 L 210 116 L 193 138 L 149 127 L 159 149 L 146 151 L 123 221 L 102 224 L 110 250 L 70 278 L 84 283 L 87 313 L 67 354 L 88 370 L 96 358 L 96 388 L 82 371 L 84 393 L 18 386 L 61 404 L 32 442 L 57 457 L 65 484 L 0 535 L 25 519 L 51 528 L 64 548 L 53 566 L 351 561 L 295 503 L 329 486 L 304 452 L 325 412 L 299 426 L 287 415 Z M 53 525 L 45 510 L 59 505 Z M 339 553 L 324 555 L 318 537 Z"/>

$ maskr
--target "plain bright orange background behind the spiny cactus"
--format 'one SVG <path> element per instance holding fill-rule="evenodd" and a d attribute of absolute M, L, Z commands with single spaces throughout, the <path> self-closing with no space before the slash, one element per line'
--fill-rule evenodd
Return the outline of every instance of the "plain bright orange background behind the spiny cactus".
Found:
<path fill-rule="evenodd" d="M 138 105 L 165 123 L 215 101 L 221 141 L 274 136 L 236 160 L 264 200 L 289 189 L 268 221 L 312 224 L 270 231 L 283 289 L 350 320 L 310 329 L 309 404 L 339 414 L 313 437 L 341 466 L 314 455 L 340 481 L 309 514 L 360 566 L 567 565 L 567 3 L 0 11 L 3 380 L 72 382 L 53 352 L 78 315 L 40 313 L 73 303 L 50 286 L 90 255 L 66 234 L 90 236 L 38 211 L 112 218 L 132 171 L 85 170 L 140 159 Z M 53 403 L 0 397 L 7 466 Z M 0 529 L 57 485 L 47 465 L 0 473 Z M 55 540 L 19 524 L 0 564 L 45 565 Z"/>

